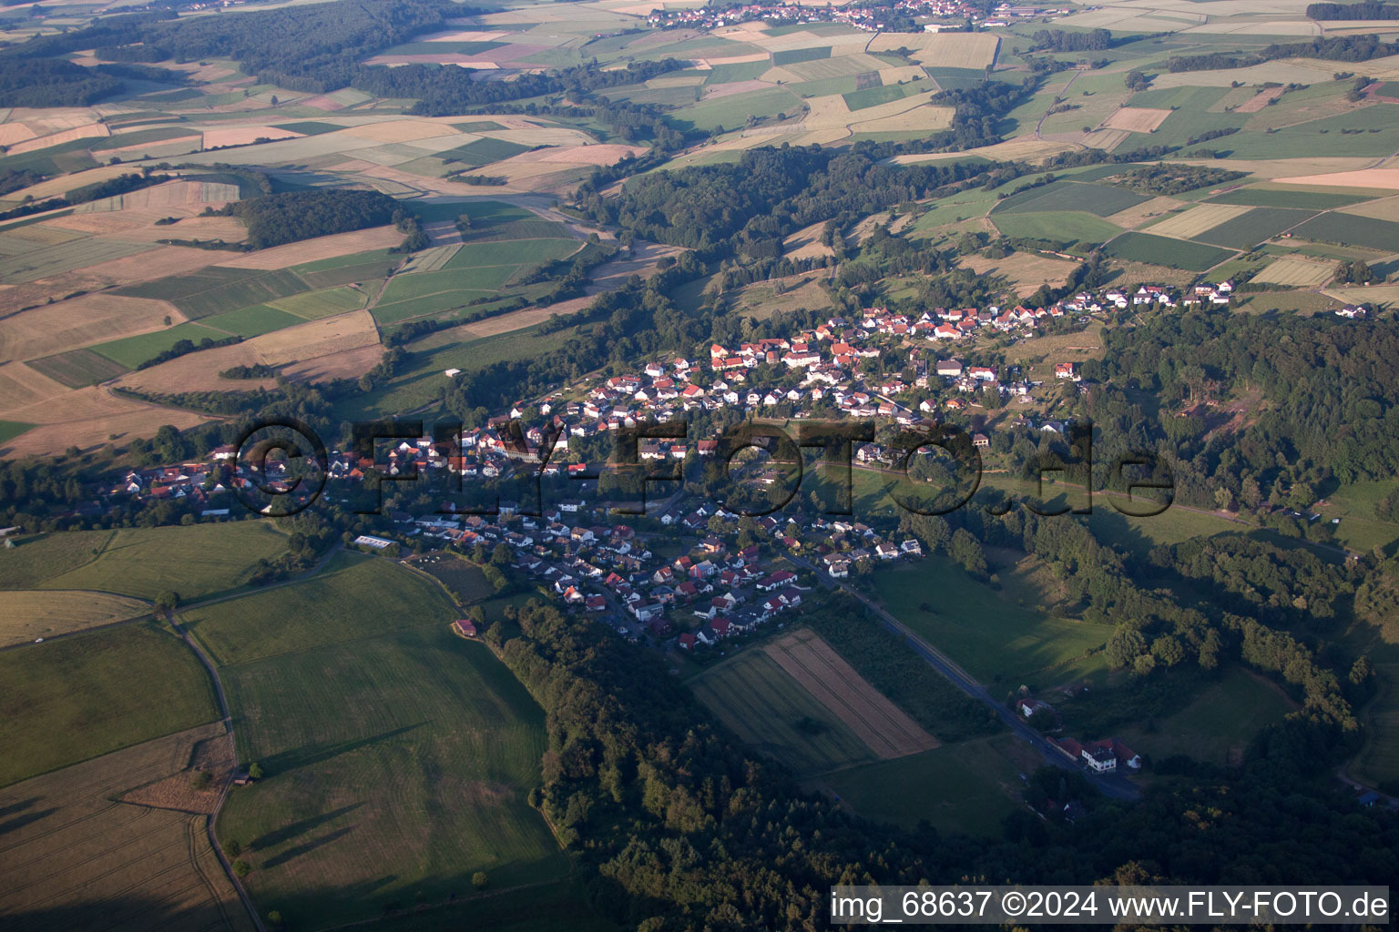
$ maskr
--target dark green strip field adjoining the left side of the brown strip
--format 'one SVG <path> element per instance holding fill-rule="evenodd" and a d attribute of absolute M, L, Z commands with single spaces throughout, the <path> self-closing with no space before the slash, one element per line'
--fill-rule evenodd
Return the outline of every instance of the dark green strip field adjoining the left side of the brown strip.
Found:
<path fill-rule="evenodd" d="M 859 735 L 765 653 L 744 651 L 690 680 L 690 687 L 744 743 L 799 774 L 876 759 Z"/>

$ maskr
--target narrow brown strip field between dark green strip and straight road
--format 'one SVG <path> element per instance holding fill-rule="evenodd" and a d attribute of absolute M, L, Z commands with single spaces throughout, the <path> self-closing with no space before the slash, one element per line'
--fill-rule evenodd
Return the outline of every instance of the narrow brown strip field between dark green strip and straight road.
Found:
<path fill-rule="evenodd" d="M 904 757 L 939 746 L 936 738 L 865 682 L 816 633 L 793 632 L 762 650 L 879 757 Z"/>

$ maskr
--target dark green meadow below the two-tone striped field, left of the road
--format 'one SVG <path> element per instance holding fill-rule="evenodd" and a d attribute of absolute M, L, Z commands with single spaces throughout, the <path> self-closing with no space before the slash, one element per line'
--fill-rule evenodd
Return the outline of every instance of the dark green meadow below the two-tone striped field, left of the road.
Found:
<path fill-rule="evenodd" d="M 1017 808 L 1028 773 L 1023 750 L 1006 735 L 944 745 L 898 760 L 849 767 L 820 778 L 841 805 L 874 822 L 999 837 Z"/>

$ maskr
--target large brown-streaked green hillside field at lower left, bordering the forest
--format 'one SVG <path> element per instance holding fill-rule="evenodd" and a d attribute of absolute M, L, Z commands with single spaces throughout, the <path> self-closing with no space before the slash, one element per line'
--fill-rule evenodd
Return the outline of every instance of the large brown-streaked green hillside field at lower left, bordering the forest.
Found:
<path fill-rule="evenodd" d="M 476 871 L 492 889 L 568 872 L 526 803 L 540 781 L 543 711 L 484 644 L 424 611 L 417 587 L 431 584 L 393 569 L 413 585 L 355 611 L 371 623 L 361 633 L 374 622 L 378 633 L 224 671 L 241 755 L 267 777 L 234 792 L 218 831 L 248 851 L 259 907 L 290 922 L 467 894 Z M 346 619 L 337 608 L 302 611 L 325 632 Z M 388 630 L 396 618 L 417 630 Z"/>

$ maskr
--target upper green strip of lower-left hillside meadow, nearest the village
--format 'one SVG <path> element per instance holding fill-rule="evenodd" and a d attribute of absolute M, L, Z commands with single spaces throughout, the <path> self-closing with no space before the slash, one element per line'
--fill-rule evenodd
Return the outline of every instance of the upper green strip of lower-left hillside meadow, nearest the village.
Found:
<path fill-rule="evenodd" d="M 411 604 L 413 611 L 399 611 Z M 220 665 L 350 641 L 457 618 L 431 581 L 389 560 L 339 553 L 313 577 L 180 616 Z"/>

